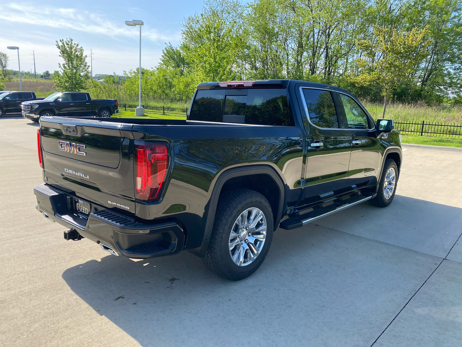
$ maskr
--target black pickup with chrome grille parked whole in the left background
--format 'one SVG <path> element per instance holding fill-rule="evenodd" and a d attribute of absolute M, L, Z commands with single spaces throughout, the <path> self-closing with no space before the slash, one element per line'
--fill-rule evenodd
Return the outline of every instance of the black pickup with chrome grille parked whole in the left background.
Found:
<path fill-rule="evenodd" d="M 49 97 L 22 103 L 23 117 L 36 123 L 43 116 L 110 117 L 119 112 L 115 99 L 92 100 L 89 93 L 54 93 Z"/>

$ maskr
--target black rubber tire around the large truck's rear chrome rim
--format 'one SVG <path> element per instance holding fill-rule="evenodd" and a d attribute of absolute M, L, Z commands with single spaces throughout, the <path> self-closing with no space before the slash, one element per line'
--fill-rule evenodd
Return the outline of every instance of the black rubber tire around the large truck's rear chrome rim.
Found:
<path fill-rule="evenodd" d="M 267 224 L 266 239 L 255 260 L 246 266 L 238 266 L 231 259 L 230 254 L 229 242 L 231 229 L 237 217 L 249 208 L 257 208 L 263 212 Z M 243 188 L 223 192 L 217 205 L 215 222 L 213 223 L 207 253 L 205 258 L 203 258 L 205 266 L 224 279 L 231 279 L 233 281 L 245 279 L 254 273 L 260 267 L 263 260 L 265 260 L 273 239 L 273 227 L 274 219 L 271 205 L 263 195 Z M 246 244 L 249 244 L 249 242 Z"/>

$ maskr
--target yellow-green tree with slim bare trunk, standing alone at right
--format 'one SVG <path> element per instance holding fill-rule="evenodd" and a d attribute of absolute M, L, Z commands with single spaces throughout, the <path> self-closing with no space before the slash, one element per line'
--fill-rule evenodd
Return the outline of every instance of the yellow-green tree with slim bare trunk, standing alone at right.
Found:
<path fill-rule="evenodd" d="M 385 27 L 374 27 L 374 37 L 359 42 L 366 58 L 358 58 L 361 73 L 353 79 L 359 84 L 376 83 L 382 88 L 383 112 L 393 89 L 415 74 L 419 63 L 428 56 L 431 40 L 426 39 L 428 28 L 413 28 L 398 31 Z"/>

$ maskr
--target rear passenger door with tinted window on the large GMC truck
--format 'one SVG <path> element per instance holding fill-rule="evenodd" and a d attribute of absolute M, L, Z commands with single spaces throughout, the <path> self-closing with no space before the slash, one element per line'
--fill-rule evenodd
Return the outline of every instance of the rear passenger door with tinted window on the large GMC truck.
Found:
<path fill-rule="evenodd" d="M 306 203 L 348 186 L 351 135 L 341 129 L 333 91 L 299 87 L 303 112 L 308 118 L 308 155 L 305 173 Z"/>

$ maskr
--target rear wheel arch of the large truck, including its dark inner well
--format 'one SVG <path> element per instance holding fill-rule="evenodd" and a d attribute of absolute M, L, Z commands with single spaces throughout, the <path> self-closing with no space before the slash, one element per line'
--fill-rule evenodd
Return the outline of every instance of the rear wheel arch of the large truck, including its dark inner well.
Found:
<path fill-rule="evenodd" d="M 280 175 L 269 165 L 231 168 L 221 173 L 213 186 L 212 195 L 206 206 L 207 219 L 201 245 L 198 248 L 188 249 L 188 252 L 201 258 L 205 256 L 220 194 L 232 188 L 252 189 L 267 198 L 273 211 L 274 230 L 276 230 L 282 216 L 285 199 L 284 182 Z"/>

